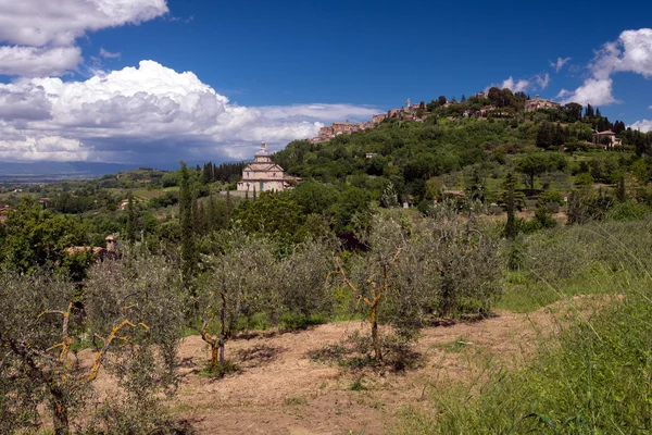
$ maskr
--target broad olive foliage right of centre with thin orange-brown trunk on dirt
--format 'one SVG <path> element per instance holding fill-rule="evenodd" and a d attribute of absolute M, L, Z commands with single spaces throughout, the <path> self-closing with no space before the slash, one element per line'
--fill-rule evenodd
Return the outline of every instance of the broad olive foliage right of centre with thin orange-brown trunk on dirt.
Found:
<path fill-rule="evenodd" d="M 383 360 L 379 324 L 406 343 L 432 318 L 487 313 L 502 285 L 498 245 L 456 217 L 412 222 L 399 211 L 372 216 L 369 250 L 338 260 L 344 287 L 371 323 L 373 358 Z"/>

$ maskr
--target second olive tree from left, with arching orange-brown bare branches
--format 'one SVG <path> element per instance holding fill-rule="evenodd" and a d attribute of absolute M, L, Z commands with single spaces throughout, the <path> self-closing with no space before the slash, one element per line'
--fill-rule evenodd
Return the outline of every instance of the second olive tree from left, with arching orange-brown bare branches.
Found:
<path fill-rule="evenodd" d="M 177 351 L 184 324 L 178 269 L 162 257 L 131 254 L 90 270 L 84 298 L 87 332 L 103 349 L 102 364 L 122 394 L 96 419 L 110 433 L 151 433 L 170 427 L 160 400 L 177 386 Z M 120 331 L 118 331 L 120 328 Z M 118 340 L 118 346 L 111 346 Z"/>

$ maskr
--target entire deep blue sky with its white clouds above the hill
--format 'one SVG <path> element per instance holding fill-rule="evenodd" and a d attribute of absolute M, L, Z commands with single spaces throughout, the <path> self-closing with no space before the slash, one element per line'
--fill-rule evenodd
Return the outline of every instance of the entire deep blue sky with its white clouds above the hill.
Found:
<path fill-rule="evenodd" d="M 0 0 L 8 160 L 246 158 L 491 85 L 652 129 L 650 2 L 16 3 Z"/>

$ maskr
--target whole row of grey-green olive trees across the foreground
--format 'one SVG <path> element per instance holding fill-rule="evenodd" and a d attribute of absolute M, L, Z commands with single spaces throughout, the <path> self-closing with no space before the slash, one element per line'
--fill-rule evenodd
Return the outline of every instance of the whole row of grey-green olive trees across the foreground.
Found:
<path fill-rule="evenodd" d="M 337 295 L 348 295 L 347 311 L 369 322 L 366 358 L 381 363 L 390 336 L 406 345 L 430 319 L 487 313 L 500 295 L 497 240 L 478 228 L 378 211 L 361 234 L 365 250 L 344 253 L 329 239 L 287 250 L 256 234 L 220 232 L 214 252 L 193 252 L 192 264 L 181 244 L 181 276 L 174 256 L 129 244 L 96 263 L 83 286 L 42 268 L 0 270 L 0 430 L 40 426 L 47 405 L 57 434 L 170 432 L 160 400 L 174 394 L 187 328 L 208 344 L 209 372 L 221 376 L 228 340 L 253 318 L 305 325 L 341 309 Z M 380 324 L 390 326 L 384 335 Z M 80 347 L 87 362 L 77 362 Z M 121 394 L 93 409 L 100 370 Z"/>

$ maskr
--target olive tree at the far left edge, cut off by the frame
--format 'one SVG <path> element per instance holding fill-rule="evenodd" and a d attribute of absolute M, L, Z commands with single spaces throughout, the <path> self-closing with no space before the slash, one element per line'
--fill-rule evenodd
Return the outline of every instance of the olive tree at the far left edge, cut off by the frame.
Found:
<path fill-rule="evenodd" d="M 87 397 L 89 373 L 70 358 L 73 290 L 40 270 L 0 271 L 0 432 L 39 427 L 45 403 L 65 434 Z"/>

